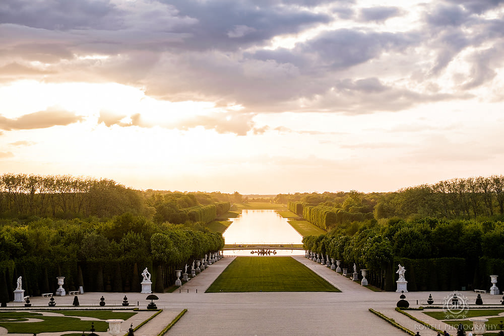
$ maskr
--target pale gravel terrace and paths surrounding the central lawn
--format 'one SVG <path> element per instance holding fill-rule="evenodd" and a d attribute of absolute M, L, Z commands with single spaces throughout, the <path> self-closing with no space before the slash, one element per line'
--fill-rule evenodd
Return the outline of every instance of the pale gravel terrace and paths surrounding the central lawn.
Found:
<path fill-rule="evenodd" d="M 205 293 L 205 290 L 227 267 L 234 257 L 225 257 L 212 264 L 204 272 L 184 284 L 173 293 L 156 295 L 160 298 L 156 304 L 165 311 L 135 332 L 136 335 L 155 336 L 184 308 L 188 311 L 168 332 L 169 335 L 388 335 L 404 336 L 406 333 L 388 324 L 368 311 L 368 307 L 394 318 L 401 325 L 413 331 L 420 331 L 422 336 L 436 335 L 417 322 L 394 310 L 399 294 L 395 292 L 372 292 L 354 283 L 328 267 L 317 264 L 303 256 L 294 258 L 305 264 L 342 293 L 324 292 L 268 292 L 268 293 Z M 432 292 L 433 298 L 441 300 L 451 292 Z M 474 301 L 473 292 L 462 292 Z M 140 303 L 147 306 L 146 294 L 126 293 L 130 304 Z M 120 306 L 123 293 L 86 293 L 79 296 L 81 305 L 94 305 L 98 308 L 99 298 L 105 297 L 107 306 Z M 428 292 L 406 293 L 410 306 L 417 307 L 417 300 L 426 300 Z M 473 298 L 474 297 L 474 298 Z M 48 298 L 33 297 L 34 306 L 47 307 Z M 500 296 L 483 295 L 486 304 L 499 304 Z M 71 305 L 72 296 L 56 298 L 57 307 Z M 23 306 L 10 303 L 10 306 Z M 6 308 L 3 308 L 6 309 Z M 415 316 L 417 312 L 412 312 Z M 134 317 L 136 318 L 136 317 Z M 437 323 L 439 328 L 453 328 L 434 319 L 427 322 Z M 136 322 L 140 322 L 140 319 Z M 128 323 L 122 324 L 126 331 Z M 136 325 L 134 323 L 134 325 Z M 0 331 L 1 334 L 1 331 Z M 106 334 L 106 333 L 102 333 Z M 31 336 L 31 335 L 29 335 Z M 53 336 L 49 333 L 42 336 Z"/>

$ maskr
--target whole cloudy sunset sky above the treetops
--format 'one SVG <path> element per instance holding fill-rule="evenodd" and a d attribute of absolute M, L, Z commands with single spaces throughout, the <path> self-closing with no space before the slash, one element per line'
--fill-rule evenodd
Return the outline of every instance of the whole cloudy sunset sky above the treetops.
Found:
<path fill-rule="evenodd" d="M 504 0 L 2 0 L 0 174 L 394 191 L 502 174 Z"/>

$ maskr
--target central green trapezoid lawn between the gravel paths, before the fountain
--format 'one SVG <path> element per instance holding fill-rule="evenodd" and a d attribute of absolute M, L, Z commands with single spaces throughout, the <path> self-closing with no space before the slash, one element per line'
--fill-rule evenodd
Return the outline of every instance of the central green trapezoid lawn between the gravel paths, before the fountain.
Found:
<path fill-rule="evenodd" d="M 340 292 L 289 256 L 236 257 L 208 288 L 216 292 Z"/>

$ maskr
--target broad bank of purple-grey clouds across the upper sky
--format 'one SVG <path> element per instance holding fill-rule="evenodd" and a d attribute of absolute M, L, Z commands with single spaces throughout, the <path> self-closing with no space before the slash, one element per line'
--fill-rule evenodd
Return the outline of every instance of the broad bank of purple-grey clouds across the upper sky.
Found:
<path fill-rule="evenodd" d="M 44 76 L 47 82 L 117 82 L 158 99 L 212 101 L 224 109 L 241 104 L 244 109 L 226 116 L 229 120 L 216 114 L 186 122 L 187 127 L 243 134 L 254 129 L 250 112 L 369 113 L 470 97 L 465 91 L 491 81 L 500 64 L 492 50 L 501 50 L 496 46 L 504 37 L 504 22 L 480 14 L 501 3 L 419 5 L 411 11 L 421 11 L 421 22 L 388 32 L 376 30 L 374 23 L 387 28 L 387 19 L 408 15 L 406 10 L 323 0 L 6 0 L 0 4 L 0 74 Z M 342 20 L 353 22 L 292 48 L 265 48 L 274 37 Z M 491 47 L 470 51 L 484 44 Z M 443 76 L 461 54 L 471 73 L 462 80 L 453 76 L 455 88 L 447 90 L 452 93 L 424 89 L 436 87 L 429 82 Z M 90 55 L 108 58 L 83 57 Z M 4 81 L 9 76 L 2 75 Z M 119 114 L 103 112 L 98 121 L 126 125 Z"/>

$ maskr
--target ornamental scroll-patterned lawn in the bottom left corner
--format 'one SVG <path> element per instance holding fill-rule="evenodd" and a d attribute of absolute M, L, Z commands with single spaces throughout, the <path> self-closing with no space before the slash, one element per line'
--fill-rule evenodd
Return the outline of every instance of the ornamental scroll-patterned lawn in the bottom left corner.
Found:
<path fill-rule="evenodd" d="M 98 310 L 51 310 L 53 313 L 60 313 L 67 316 L 44 316 L 40 313 L 17 311 L 17 312 L 0 312 L 0 326 L 7 328 L 9 333 L 40 333 L 40 332 L 65 332 L 65 331 L 88 331 L 91 328 L 91 322 L 94 322 L 96 331 L 107 331 L 108 323 L 105 321 L 89 321 L 81 320 L 78 317 L 68 316 L 84 316 L 95 317 L 99 319 L 128 319 L 135 315 L 135 312 L 112 312 Z M 40 322 L 12 322 L 26 321 L 27 318 L 38 318 Z M 6 322 L 10 320 L 11 322 Z"/>

